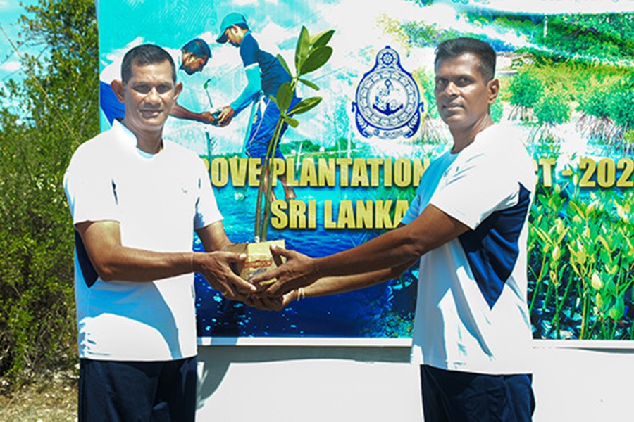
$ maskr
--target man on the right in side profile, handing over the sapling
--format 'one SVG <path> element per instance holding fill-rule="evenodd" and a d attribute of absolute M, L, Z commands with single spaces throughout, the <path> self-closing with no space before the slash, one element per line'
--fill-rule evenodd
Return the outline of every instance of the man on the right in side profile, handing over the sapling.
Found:
<path fill-rule="evenodd" d="M 392 279 L 420 260 L 412 357 L 425 421 L 530 421 L 533 161 L 518 134 L 491 119 L 495 51 L 459 38 L 437 54 L 434 94 L 454 143 L 425 170 L 399 227 L 327 257 L 277 248 L 287 263 L 251 280 L 277 279 L 249 303 L 280 309 Z"/>

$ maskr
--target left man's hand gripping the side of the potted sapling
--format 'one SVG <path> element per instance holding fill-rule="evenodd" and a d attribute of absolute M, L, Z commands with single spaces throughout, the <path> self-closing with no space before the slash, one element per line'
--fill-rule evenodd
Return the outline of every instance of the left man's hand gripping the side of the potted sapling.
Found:
<path fill-rule="evenodd" d="M 244 281 L 231 269 L 231 264 L 242 262 L 247 255 L 233 252 L 205 252 L 194 254 L 194 271 L 202 274 L 211 287 L 220 290 L 225 298 L 244 300 L 256 291 L 256 286 Z"/>

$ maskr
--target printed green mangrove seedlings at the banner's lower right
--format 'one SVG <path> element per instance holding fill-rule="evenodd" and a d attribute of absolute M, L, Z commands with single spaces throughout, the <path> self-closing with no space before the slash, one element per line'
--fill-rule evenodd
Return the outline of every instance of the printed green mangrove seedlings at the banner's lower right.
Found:
<path fill-rule="evenodd" d="M 530 312 L 537 338 L 632 340 L 634 193 L 538 191 L 530 224 Z"/>

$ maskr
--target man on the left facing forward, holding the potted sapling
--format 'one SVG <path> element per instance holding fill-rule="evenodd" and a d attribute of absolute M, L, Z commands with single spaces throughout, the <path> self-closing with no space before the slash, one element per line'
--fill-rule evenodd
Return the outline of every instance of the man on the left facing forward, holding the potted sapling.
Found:
<path fill-rule="evenodd" d="M 253 289 L 198 155 L 163 139 L 182 85 L 144 44 L 113 81 L 125 117 L 83 143 L 64 177 L 75 227 L 79 421 L 194 421 L 194 271 L 230 299 Z M 192 252 L 196 231 L 207 252 Z"/>

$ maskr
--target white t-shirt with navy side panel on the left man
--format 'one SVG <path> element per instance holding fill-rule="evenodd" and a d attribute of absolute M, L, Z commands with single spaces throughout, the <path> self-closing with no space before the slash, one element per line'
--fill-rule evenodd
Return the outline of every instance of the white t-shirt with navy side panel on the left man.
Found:
<path fill-rule="evenodd" d="M 222 219 L 204 163 L 170 141 L 148 154 L 115 121 L 82 144 L 64 178 L 73 224 L 115 221 L 130 248 L 189 252 L 193 231 Z M 194 274 L 148 283 L 103 281 L 75 235 L 80 357 L 171 360 L 197 353 Z"/>

